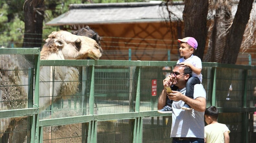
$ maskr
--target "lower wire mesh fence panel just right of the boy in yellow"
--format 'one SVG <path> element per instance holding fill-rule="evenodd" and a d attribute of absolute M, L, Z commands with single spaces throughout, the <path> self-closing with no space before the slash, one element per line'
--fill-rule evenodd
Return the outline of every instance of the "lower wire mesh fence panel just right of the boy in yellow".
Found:
<path fill-rule="evenodd" d="M 230 130 L 229 142 L 243 142 L 242 129 L 243 129 L 243 113 L 219 113 L 218 122 L 226 124 Z"/>

